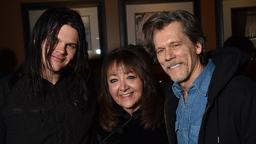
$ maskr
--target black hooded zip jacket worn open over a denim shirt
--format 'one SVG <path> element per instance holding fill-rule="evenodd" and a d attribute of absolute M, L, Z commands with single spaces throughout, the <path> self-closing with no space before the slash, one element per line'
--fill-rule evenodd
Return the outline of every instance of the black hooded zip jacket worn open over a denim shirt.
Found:
<path fill-rule="evenodd" d="M 236 48 L 208 52 L 216 65 L 208 88 L 207 104 L 202 117 L 198 144 L 255 144 L 256 84 L 239 75 L 247 66 L 248 55 Z M 165 119 L 171 144 L 177 143 L 176 108 L 179 99 L 166 91 Z"/>

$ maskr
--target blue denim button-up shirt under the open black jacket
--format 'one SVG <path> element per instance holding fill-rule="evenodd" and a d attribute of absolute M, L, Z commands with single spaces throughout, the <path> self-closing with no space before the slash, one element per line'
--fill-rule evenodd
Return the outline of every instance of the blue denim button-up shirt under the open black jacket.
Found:
<path fill-rule="evenodd" d="M 175 82 L 173 92 L 180 99 L 176 109 L 175 131 L 178 144 L 196 144 L 201 126 L 202 116 L 207 103 L 207 91 L 211 76 L 215 68 L 214 63 L 209 59 L 208 64 L 188 88 L 188 97 L 184 103 L 181 85 Z"/>

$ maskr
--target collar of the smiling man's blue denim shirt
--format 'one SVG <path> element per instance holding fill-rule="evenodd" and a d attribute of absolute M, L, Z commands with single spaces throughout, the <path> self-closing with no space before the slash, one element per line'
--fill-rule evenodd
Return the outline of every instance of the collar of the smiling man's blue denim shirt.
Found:
<path fill-rule="evenodd" d="M 214 68 L 215 65 L 212 59 L 209 59 L 208 64 L 205 66 L 203 71 L 198 75 L 198 77 L 193 81 L 192 85 L 188 88 L 188 90 L 191 87 L 195 87 L 203 96 L 206 97 Z M 175 82 L 172 88 L 176 97 L 180 98 L 180 96 L 183 95 L 183 89 L 178 82 Z"/>

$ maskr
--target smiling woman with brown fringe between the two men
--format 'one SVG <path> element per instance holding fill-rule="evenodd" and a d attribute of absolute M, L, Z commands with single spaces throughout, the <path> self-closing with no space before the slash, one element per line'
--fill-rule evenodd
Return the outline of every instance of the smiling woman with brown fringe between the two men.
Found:
<path fill-rule="evenodd" d="M 168 143 L 163 107 L 147 61 L 135 48 L 104 59 L 93 144 Z"/>

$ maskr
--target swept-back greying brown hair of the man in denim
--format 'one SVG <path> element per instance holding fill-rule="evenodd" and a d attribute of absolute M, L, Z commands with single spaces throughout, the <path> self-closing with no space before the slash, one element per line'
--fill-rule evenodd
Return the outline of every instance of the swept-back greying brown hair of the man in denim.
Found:
<path fill-rule="evenodd" d="M 154 62 L 157 63 L 157 56 L 154 44 L 154 33 L 158 30 L 163 30 L 172 22 L 179 22 L 182 25 L 183 33 L 188 37 L 190 42 L 196 46 L 196 43 L 202 45 L 202 52 L 199 54 L 201 63 L 207 61 L 206 58 L 206 36 L 203 34 L 201 25 L 191 13 L 187 11 L 170 11 L 160 12 L 151 16 L 143 25 L 142 31 L 146 40 L 146 48 L 154 58 Z"/>

